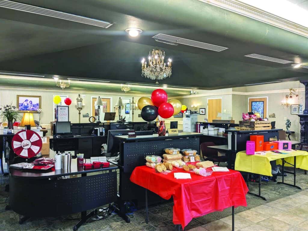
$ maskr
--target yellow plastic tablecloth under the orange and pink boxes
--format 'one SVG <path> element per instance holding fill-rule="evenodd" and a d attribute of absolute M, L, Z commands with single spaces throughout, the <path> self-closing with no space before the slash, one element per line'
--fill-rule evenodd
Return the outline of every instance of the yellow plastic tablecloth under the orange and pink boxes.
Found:
<path fill-rule="evenodd" d="M 283 150 L 282 150 L 283 152 Z M 293 151 L 288 154 L 276 154 L 274 152 L 265 152 L 265 155 L 246 155 L 246 151 L 237 152 L 235 159 L 235 170 L 242 172 L 251 172 L 265 176 L 272 176 L 272 167 L 270 161 L 282 158 L 293 159 L 293 156 L 306 156 L 306 151 Z M 296 162 L 299 158 L 296 158 Z M 303 161 L 302 161 L 303 162 Z M 305 162 L 305 161 L 304 161 Z M 298 164 L 296 163 L 298 166 Z"/>

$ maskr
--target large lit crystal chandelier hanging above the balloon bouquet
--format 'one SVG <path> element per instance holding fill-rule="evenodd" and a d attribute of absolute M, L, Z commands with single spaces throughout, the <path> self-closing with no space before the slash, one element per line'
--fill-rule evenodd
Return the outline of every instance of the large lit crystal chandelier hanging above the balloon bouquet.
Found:
<path fill-rule="evenodd" d="M 142 59 L 141 76 L 156 80 L 156 84 L 158 84 L 158 80 L 165 79 L 167 77 L 170 78 L 172 75 L 171 59 L 168 59 L 168 67 L 166 67 L 164 58 L 165 52 L 159 50 L 157 47 L 156 49 L 153 49 L 152 52 L 150 51 L 148 57 L 148 66 L 147 62 L 145 62 L 145 59 Z"/>

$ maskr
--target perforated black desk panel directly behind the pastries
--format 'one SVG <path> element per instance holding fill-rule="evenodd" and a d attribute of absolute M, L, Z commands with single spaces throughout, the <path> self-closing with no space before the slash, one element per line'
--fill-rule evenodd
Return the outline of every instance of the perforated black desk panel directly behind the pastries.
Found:
<path fill-rule="evenodd" d="M 144 165 L 145 156 L 164 154 L 164 148 L 196 149 L 199 152 L 199 138 L 183 138 L 168 140 L 151 140 L 124 143 L 123 158 L 124 172 L 132 172 L 135 167 Z"/>

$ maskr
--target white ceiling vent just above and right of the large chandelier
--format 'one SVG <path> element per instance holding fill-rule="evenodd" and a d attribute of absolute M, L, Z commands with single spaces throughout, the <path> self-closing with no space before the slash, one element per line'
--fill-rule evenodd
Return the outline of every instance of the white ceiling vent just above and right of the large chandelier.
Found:
<path fill-rule="evenodd" d="M 221 46 L 217 46 L 217 45 L 213 45 L 209 43 L 202 43 L 202 42 L 198 42 L 198 41 L 194 41 L 190 39 L 184 39 L 184 38 L 180 38 L 180 37 L 176 37 L 176 36 L 172 36 L 168 34 L 156 34 L 152 38 L 154 38 L 157 42 L 161 42 L 161 43 L 168 43 L 168 44 L 171 43 L 171 45 L 183 44 L 183 45 L 187 45 L 191 47 L 198 47 L 198 48 L 211 50 L 211 51 L 217 51 L 217 52 L 228 49 L 228 47 L 221 47 Z"/>

